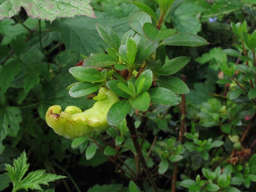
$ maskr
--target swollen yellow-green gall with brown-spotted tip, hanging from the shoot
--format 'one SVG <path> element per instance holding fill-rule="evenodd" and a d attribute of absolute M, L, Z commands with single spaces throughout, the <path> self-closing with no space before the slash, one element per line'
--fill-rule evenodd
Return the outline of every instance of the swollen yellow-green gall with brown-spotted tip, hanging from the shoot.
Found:
<path fill-rule="evenodd" d="M 98 95 L 93 99 L 97 102 L 84 112 L 76 106 L 68 106 L 65 111 L 61 111 L 59 105 L 49 107 L 45 115 L 46 123 L 54 132 L 67 139 L 106 131 L 110 127 L 107 121 L 108 110 L 119 98 L 112 91 L 100 87 Z"/>

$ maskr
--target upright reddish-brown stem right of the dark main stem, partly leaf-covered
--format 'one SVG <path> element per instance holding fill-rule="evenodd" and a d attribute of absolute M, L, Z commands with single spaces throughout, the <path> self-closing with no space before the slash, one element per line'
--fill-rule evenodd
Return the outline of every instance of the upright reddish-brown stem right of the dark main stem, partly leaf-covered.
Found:
<path fill-rule="evenodd" d="M 186 76 L 181 75 L 182 80 L 186 81 Z M 179 132 L 179 141 L 182 143 L 183 133 L 185 130 L 185 116 L 186 116 L 186 98 L 185 94 L 181 95 L 181 122 L 180 122 L 180 132 Z M 177 172 L 178 172 L 178 165 L 179 161 L 175 162 L 173 165 L 173 172 L 172 172 L 172 192 L 176 191 L 176 179 L 177 179 Z"/>

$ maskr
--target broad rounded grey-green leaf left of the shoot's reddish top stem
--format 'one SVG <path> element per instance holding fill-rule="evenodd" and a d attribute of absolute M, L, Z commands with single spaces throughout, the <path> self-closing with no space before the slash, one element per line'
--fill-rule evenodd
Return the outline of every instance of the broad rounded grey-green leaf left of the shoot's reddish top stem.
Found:
<path fill-rule="evenodd" d="M 140 35 L 143 35 L 144 23 L 152 23 L 150 16 L 145 12 L 135 12 L 129 20 L 130 26 Z"/>

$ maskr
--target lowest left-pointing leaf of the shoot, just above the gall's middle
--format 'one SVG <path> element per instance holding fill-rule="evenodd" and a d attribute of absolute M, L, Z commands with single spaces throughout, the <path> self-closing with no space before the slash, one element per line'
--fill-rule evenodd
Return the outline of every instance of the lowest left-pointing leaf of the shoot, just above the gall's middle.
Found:
<path fill-rule="evenodd" d="M 72 86 L 68 93 L 71 97 L 83 97 L 97 91 L 100 86 L 98 83 L 79 82 Z"/>

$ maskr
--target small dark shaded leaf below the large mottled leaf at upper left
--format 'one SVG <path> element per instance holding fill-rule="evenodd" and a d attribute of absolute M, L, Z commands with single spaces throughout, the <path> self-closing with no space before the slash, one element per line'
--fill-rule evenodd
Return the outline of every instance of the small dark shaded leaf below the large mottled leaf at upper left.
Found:
<path fill-rule="evenodd" d="M 0 5 L 1 6 L 1 5 Z M 16 39 L 13 39 L 11 42 L 11 47 L 15 52 L 15 55 L 19 58 L 20 54 L 26 50 L 28 44 L 26 43 L 26 36 L 24 34 L 20 34 L 16 36 Z"/>

